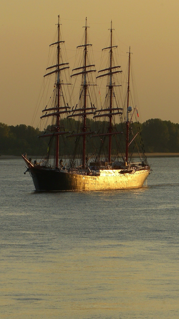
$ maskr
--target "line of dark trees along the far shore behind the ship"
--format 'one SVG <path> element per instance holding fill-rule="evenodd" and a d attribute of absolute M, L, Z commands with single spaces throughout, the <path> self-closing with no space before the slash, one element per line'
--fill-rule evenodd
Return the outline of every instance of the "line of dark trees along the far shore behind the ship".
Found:
<path fill-rule="evenodd" d="M 62 125 L 64 125 L 62 120 Z M 107 122 L 89 120 L 91 131 L 98 131 L 103 124 L 107 128 Z M 124 124 L 116 124 L 117 130 L 123 130 Z M 74 131 L 77 121 L 73 121 Z M 65 126 L 66 127 L 66 126 Z M 73 130 L 72 127 L 72 130 Z M 133 123 L 134 131 L 140 127 L 141 136 L 146 152 L 179 152 L 179 124 L 161 119 L 149 119 L 144 123 Z M 43 155 L 47 153 L 48 138 L 39 138 L 44 132 L 38 128 L 20 125 L 7 125 L 0 122 L 0 155 L 20 156 L 27 152 L 29 155 Z M 47 132 L 48 133 L 48 132 Z M 68 142 L 67 142 L 68 140 Z M 68 144 L 68 151 L 74 142 L 72 139 L 63 139 L 62 147 Z M 98 142 L 99 143 L 99 142 Z M 89 149 L 90 152 L 90 149 Z"/>

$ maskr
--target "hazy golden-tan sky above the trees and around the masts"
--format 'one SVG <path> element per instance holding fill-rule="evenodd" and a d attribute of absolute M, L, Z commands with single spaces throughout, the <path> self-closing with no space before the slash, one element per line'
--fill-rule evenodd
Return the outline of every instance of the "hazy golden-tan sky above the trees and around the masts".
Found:
<path fill-rule="evenodd" d="M 140 121 L 179 123 L 178 0 L 1 0 L 0 122 L 32 124 L 58 15 L 71 69 L 85 17 L 97 70 L 112 19 L 122 70 L 133 53 Z"/>

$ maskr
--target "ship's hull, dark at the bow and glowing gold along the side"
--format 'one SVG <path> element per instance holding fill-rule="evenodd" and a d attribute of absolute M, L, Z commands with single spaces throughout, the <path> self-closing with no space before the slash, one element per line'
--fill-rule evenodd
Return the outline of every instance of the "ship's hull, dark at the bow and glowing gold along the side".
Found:
<path fill-rule="evenodd" d="M 100 176 L 73 174 L 65 170 L 29 166 L 36 190 L 93 191 L 140 188 L 149 175 L 149 169 L 121 174 L 120 170 L 100 170 Z"/>

